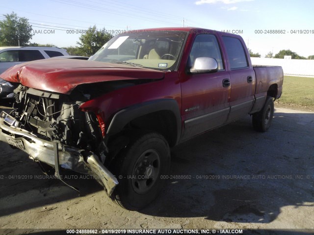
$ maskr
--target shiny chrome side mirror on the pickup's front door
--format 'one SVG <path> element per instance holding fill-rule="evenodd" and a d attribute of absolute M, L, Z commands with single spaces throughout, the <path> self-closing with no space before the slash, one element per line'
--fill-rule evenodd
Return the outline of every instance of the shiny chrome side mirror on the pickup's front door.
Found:
<path fill-rule="evenodd" d="M 216 71 L 218 71 L 217 61 L 211 57 L 196 58 L 193 67 L 189 70 L 190 73 L 208 73 Z"/>

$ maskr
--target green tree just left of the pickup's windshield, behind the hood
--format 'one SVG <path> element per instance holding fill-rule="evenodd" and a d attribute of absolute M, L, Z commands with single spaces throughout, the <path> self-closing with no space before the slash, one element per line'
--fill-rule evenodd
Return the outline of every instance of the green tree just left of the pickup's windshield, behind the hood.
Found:
<path fill-rule="evenodd" d="M 89 27 L 85 34 L 79 37 L 79 50 L 85 56 L 91 56 L 96 53 L 101 47 L 105 45 L 113 36 L 106 33 L 105 28 L 97 30 L 96 25 Z"/>

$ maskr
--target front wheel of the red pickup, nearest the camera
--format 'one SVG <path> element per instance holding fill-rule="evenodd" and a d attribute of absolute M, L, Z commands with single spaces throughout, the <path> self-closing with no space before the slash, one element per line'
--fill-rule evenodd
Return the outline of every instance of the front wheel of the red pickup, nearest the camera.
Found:
<path fill-rule="evenodd" d="M 161 176 L 168 174 L 169 166 L 170 149 L 163 136 L 158 133 L 140 135 L 114 161 L 119 181 L 114 199 L 131 211 L 144 208 L 163 187 Z"/>

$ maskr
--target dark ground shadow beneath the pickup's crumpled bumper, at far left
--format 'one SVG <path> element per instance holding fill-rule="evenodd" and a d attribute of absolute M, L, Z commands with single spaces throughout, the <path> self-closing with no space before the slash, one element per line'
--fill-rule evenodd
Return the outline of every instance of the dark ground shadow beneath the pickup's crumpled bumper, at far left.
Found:
<path fill-rule="evenodd" d="M 0 216 L 36 207 L 45 211 L 43 207 L 47 209 L 50 204 L 104 190 L 86 175 L 62 170 L 63 179 L 66 178 L 64 181 L 79 188 L 78 193 L 53 175 L 45 175 L 25 152 L 12 149 L 3 142 L 0 142 L 0 151 Z"/>

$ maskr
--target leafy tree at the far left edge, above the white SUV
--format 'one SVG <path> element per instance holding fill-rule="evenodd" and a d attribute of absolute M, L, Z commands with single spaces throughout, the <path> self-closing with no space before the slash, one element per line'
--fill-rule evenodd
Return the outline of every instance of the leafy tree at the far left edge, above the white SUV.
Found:
<path fill-rule="evenodd" d="M 5 46 L 27 46 L 33 34 L 32 27 L 25 17 L 18 17 L 14 12 L 3 15 L 0 21 L 0 44 Z"/>

